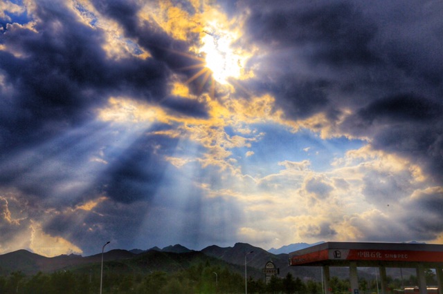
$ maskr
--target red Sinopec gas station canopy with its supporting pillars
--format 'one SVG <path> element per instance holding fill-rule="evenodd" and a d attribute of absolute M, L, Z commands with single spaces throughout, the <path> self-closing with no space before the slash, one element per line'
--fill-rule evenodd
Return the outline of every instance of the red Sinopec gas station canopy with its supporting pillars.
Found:
<path fill-rule="evenodd" d="M 443 245 L 419 243 L 326 242 L 289 253 L 290 266 L 321 266 L 324 293 L 329 294 L 329 266 L 350 268 L 352 293 L 359 293 L 357 267 L 377 267 L 381 293 L 390 293 L 386 268 L 416 268 L 419 294 L 427 294 L 425 268 L 435 268 L 437 288 L 443 294 Z"/>

